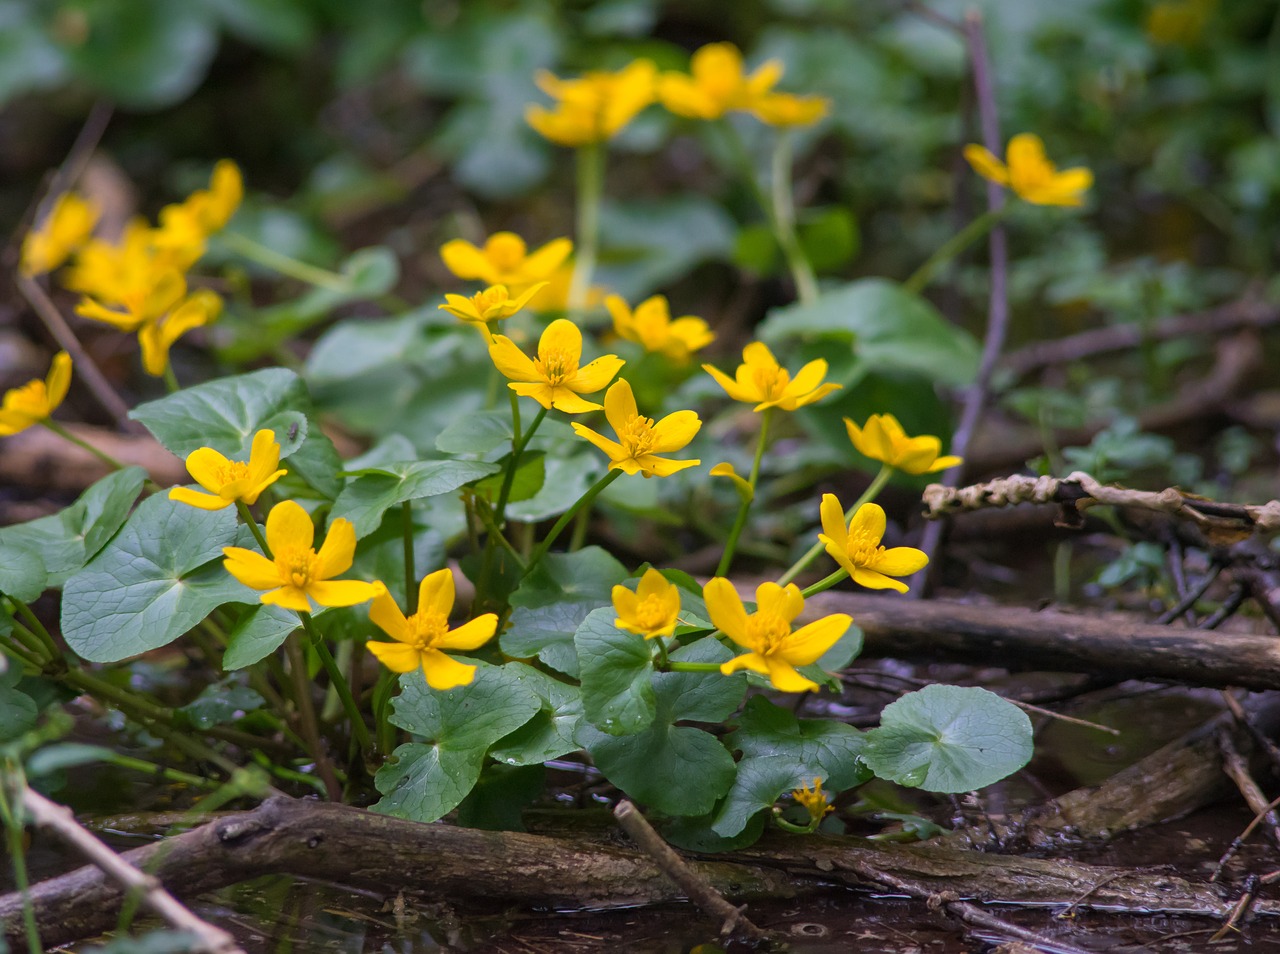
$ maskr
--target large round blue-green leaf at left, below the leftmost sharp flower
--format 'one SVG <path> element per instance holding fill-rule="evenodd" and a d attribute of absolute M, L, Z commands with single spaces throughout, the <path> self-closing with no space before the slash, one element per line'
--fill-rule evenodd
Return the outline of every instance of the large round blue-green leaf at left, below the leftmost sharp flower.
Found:
<path fill-rule="evenodd" d="M 248 590 L 221 566 L 236 513 L 148 497 L 63 589 L 63 636 L 92 662 L 156 649 Z M 218 562 L 212 562 L 218 561 Z"/>

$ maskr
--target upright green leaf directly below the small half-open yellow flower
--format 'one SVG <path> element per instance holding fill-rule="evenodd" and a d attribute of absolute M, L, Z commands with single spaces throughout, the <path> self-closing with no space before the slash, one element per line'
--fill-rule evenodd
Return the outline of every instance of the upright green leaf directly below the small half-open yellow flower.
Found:
<path fill-rule="evenodd" d="M 579 674 L 586 721 L 609 735 L 634 735 L 658 711 L 653 656 L 645 638 L 613 625 L 613 607 L 593 610 L 577 627 Z"/>

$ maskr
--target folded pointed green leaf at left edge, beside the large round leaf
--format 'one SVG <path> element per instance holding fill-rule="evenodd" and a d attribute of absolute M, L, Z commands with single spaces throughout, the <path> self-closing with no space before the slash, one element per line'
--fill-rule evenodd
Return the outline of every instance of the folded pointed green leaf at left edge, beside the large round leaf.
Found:
<path fill-rule="evenodd" d="M 0 547 L 40 553 L 46 585 L 59 588 L 120 529 L 146 476 L 142 467 L 108 474 L 60 513 L 0 529 Z"/>

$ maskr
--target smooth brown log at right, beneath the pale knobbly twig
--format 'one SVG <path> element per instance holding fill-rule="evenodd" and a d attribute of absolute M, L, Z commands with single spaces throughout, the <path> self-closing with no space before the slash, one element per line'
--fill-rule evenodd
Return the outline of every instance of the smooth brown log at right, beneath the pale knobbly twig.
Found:
<path fill-rule="evenodd" d="M 1280 689 L 1280 639 L 1274 636 L 842 590 L 814 595 L 805 606 L 808 618 L 836 612 L 861 626 L 867 656 Z"/>

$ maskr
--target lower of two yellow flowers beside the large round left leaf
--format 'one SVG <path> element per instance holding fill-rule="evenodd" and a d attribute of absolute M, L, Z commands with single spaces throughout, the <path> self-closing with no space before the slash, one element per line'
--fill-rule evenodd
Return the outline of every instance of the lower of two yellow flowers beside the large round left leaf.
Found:
<path fill-rule="evenodd" d="M 311 601 L 320 606 L 356 606 L 376 595 L 372 583 L 334 580 L 351 569 L 356 556 L 356 528 L 338 517 L 329 525 L 320 552 L 315 543 L 311 515 L 293 501 L 271 507 L 266 517 L 266 546 L 271 560 L 243 547 L 223 547 L 227 572 L 250 589 L 266 590 L 259 597 L 269 606 L 310 612 Z"/>

